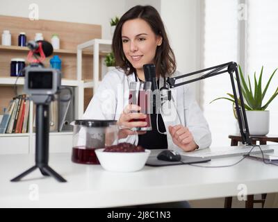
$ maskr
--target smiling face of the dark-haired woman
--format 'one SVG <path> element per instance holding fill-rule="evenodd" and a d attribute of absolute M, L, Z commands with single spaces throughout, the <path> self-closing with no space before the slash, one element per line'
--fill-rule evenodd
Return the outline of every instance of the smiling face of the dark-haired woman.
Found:
<path fill-rule="evenodd" d="M 155 35 L 152 28 L 143 19 L 132 19 L 122 26 L 122 48 L 124 56 L 136 69 L 154 63 L 156 47 L 160 46 L 162 37 Z"/>

